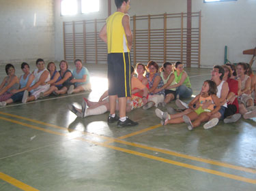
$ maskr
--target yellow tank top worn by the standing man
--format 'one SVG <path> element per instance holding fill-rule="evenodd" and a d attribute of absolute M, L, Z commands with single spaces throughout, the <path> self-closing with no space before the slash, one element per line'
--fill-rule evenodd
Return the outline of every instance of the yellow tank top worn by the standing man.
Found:
<path fill-rule="evenodd" d="M 115 12 L 106 19 L 108 53 L 130 52 L 122 19 L 126 14 Z"/>

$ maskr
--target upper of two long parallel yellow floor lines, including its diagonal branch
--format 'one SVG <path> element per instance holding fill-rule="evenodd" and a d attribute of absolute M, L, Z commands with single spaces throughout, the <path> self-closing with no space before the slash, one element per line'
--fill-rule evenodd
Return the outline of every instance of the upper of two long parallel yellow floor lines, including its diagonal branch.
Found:
<path fill-rule="evenodd" d="M 14 118 L 23 119 L 23 120 L 28 120 L 30 122 L 35 122 L 35 123 L 43 124 L 43 125 L 46 125 L 46 126 L 52 126 L 53 128 L 59 128 L 59 129 L 67 131 L 66 127 L 57 126 L 55 124 L 48 124 L 48 123 L 45 123 L 45 122 L 40 122 L 38 120 L 32 120 L 32 119 L 21 117 L 21 116 L 16 116 L 14 114 L 3 113 L 1 111 L 0 111 L 0 114 L 3 114 L 5 116 L 11 116 L 11 117 L 14 117 Z M 130 143 L 128 141 L 120 140 L 120 139 L 125 139 L 125 138 L 128 138 L 128 137 L 132 137 L 134 135 L 138 135 L 140 133 L 144 133 L 146 131 L 150 131 L 150 130 L 152 130 L 154 128 L 158 128 L 159 126 L 161 126 L 161 125 L 157 124 L 155 126 L 151 126 L 149 128 L 144 128 L 141 131 L 136 131 L 134 133 L 130 133 L 128 135 L 124 135 L 124 136 L 119 137 L 119 138 L 111 138 L 111 137 L 106 137 L 106 136 L 103 136 L 103 135 L 97 135 L 97 134 L 94 134 L 94 133 L 87 133 L 87 132 L 81 132 L 81 133 L 83 133 L 84 135 L 88 135 L 89 134 L 89 135 L 93 135 L 93 136 L 96 136 L 96 137 L 101 137 L 102 139 L 109 140 L 109 141 L 105 141 L 104 142 L 105 144 L 117 142 L 117 143 L 122 143 L 122 144 L 125 144 L 125 145 L 131 145 L 131 146 L 134 146 L 134 147 L 140 147 L 140 148 L 143 148 L 143 149 L 146 149 L 146 150 L 152 150 L 152 151 L 155 151 L 155 152 L 161 152 L 161 153 L 164 153 L 164 154 L 169 154 L 169 155 L 172 155 L 172 156 L 177 156 L 177 157 L 181 157 L 181 158 L 187 158 L 187 159 L 190 159 L 190 160 L 195 160 L 195 161 L 199 161 L 199 162 L 205 162 L 205 163 L 208 163 L 208 164 L 214 164 L 214 165 L 220 166 L 220 167 L 225 167 L 225 168 L 229 168 L 229 169 L 236 169 L 238 171 L 244 171 L 244 172 L 255 173 L 256 174 L 256 170 L 255 169 L 250 169 L 250 168 L 246 168 L 246 167 L 239 167 L 239 166 L 236 166 L 236 165 L 233 165 L 233 164 L 228 164 L 226 162 L 218 162 L 216 160 L 210 160 L 210 159 L 205 159 L 205 158 L 198 158 L 198 157 L 195 157 L 195 156 L 189 156 L 189 155 L 186 155 L 186 154 L 180 154 L 178 152 L 173 152 L 173 151 L 169 151 L 169 150 L 159 149 L 159 148 L 156 148 L 156 147 L 150 147 L 150 146 L 147 146 L 147 145 L 142 145 L 142 144 L 139 144 L 139 143 Z M 42 128 L 42 131 L 44 131 L 44 130 L 45 129 Z M 55 131 L 53 131 L 53 132 L 55 133 Z M 66 135 L 66 134 L 64 134 L 64 135 Z"/>

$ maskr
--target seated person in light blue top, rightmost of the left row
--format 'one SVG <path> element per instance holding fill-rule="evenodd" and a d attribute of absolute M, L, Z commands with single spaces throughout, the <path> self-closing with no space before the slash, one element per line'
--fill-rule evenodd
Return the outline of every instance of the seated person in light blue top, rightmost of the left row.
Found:
<path fill-rule="evenodd" d="M 70 80 L 74 85 L 70 86 L 68 94 L 72 94 L 73 92 L 91 91 L 89 71 L 86 67 L 83 67 L 82 60 L 80 59 L 74 60 L 74 64 L 76 65 L 76 69 L 72 71 L 74 79 Z"/>

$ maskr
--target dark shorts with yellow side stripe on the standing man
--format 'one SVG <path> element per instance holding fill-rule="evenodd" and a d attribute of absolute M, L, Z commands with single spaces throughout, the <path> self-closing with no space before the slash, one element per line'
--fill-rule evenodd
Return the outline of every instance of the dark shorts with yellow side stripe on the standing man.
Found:
<path fill-rule="evenodd" d="M 130 97 L 130 53 L 108 54 L 109 95 Z"/>

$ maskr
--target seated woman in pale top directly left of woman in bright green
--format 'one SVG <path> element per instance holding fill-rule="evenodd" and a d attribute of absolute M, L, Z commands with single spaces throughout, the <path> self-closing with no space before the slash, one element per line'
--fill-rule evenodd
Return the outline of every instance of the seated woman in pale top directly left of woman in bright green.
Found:
<path fill-rule="evenodd" d="M 173 65 L 171 63 L 164 63 L 160 70 L 162 70 L 160 76 L 162 77 L 162 81 L 165 85 L 160 89 L 154 90 L 154 92 L 156 93 L 160 90 L 165 90 L 165 100 L 163 102 L 163 106 L 165 106 L 167 103 L 176 98 L 176 89 L 170 88 L 170 86 L 176 84 L 176 82 L 173 74 Z"/>

